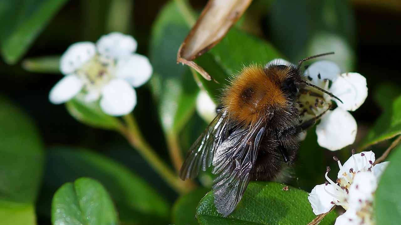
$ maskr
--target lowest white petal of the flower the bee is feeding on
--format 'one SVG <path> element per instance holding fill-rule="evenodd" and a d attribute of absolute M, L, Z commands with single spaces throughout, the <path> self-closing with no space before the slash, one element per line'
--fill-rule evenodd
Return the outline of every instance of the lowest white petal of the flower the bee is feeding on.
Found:
<path fill-rule="evenodd" d="M 318 144 L 331 151 L 339 150 L 354 143 L 356 130 L 354 117 L 348 111 L 337 107 L 327 111 L 316 126 Z"/>

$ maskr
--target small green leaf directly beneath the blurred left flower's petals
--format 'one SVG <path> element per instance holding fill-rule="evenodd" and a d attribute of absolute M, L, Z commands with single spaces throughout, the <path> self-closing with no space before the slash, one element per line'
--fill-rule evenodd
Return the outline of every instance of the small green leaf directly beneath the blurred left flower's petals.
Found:
<path fill-rule="evenodd" d="M 65 106 L 73 118 L 84 124 L 109 130 L 117 130 L 119 128 L 119 120 L 105 114 L 101 110 L 98 101 L 86 102 L 82 96 L 78 95 L 67 101 Z"/>

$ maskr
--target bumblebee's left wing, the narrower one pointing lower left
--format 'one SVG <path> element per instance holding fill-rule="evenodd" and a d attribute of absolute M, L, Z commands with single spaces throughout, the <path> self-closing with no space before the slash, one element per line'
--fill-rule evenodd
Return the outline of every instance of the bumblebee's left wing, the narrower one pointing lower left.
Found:
<path fill-rule="evenodd" d="M 205 171 L 211 165 L 216 148 L 228 136 L 229 122 L 225 117 L 225 112 L 219 112 L 191 146 L 179 172 L 182 180 L 196 177 L 199 170 Z"/>

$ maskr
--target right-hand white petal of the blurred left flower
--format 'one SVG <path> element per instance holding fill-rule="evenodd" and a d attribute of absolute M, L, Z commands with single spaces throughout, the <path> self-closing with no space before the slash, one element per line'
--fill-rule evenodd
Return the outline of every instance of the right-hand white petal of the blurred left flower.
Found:
<path fill-rule="evenodd" d="M 126 79 L 132 86 L 139 87 L 150 79 L 153 73 L 149 59 L 133 54 L 129 58 L 117 61 L 115 76 Z"/>

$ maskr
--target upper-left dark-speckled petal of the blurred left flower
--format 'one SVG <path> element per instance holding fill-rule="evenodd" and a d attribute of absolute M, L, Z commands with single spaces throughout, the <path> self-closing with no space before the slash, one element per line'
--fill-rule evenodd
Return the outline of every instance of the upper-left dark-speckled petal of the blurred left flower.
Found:
<path fill-rule="evenodd" d="M 61 56 L 60 71 L 63 74 L 74 72 L 87 63 L 96 53 L 95 44 L 85 41 L 71 45 Z"/>

